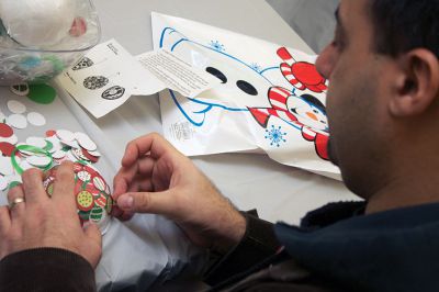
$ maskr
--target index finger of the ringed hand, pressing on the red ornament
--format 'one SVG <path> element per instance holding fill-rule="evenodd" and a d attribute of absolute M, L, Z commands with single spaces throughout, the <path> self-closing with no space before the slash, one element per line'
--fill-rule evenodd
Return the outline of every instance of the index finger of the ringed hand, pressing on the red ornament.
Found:
<path fill-rule="evenodd" d="M 72 210 L 76 210 L 75 202 L 75 172 L 71 161 L 64 161 L 56 170 L 56 179 L 54 183 L 54 192 L 52 200 L 68 204 Z"/>

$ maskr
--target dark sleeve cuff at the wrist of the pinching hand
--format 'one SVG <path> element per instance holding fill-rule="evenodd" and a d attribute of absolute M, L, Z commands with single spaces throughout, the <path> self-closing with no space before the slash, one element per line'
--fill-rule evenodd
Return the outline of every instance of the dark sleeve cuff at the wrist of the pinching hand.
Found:
<path fill-rule="evenodd" d="M 273 256 L 280 248 L 273 224 L 244 213 L 247 226 L 241 240 L 221 257 L 204 274 L 204 281 L 216 285 L 226 279 L 248 271 L 251 267 Z"/>

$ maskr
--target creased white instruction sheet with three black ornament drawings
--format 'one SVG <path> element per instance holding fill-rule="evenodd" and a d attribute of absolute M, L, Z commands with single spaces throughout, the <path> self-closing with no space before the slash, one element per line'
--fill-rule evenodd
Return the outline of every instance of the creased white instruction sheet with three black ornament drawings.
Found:
<path fill-rule="evenodd" d="M 117 109 L 131 96 L 150 96 L 168 88 L 193 98 L 221 83 L 170 50 L 134 57 L 115 40 L 95 46 L 56 81 L 95 117 Z"/>

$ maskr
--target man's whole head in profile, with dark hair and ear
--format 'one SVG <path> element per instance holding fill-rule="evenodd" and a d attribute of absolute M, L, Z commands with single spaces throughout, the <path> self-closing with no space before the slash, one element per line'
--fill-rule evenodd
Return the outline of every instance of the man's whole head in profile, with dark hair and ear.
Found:
<path fill-rule="evenodd" d="M 341 0 L 317 59 L 329 79 L 331 160 L 365 199 L 439 149 L 438 12 L 436 0 Z"/>

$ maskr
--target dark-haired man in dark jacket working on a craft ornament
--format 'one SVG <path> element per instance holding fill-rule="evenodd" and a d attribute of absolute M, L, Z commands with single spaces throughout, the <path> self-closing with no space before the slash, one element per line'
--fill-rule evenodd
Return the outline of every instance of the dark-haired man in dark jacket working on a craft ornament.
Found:
<path fill-rule="evenodd" d="M 330 81 L 330 157 L 363 203 L 329 204 L 301 227 L 273 227 L 238 212 L 150 134 L 126 148 L 114 179 L 116 215 L 162 214 L 219 254 L 205 274 L 216 290 L 437 291 L 438 13 L 437 0 L 341 0 L 335 40 L 317 60 Z M 93 226 L 81 232 L 74 203 L 58 199 L 72 195 L 71 166 L 59 171 L 52 199 L 30 170 L 9 193 L 15 205 L 0 210 L 2 290 L 92 290 L 99 236 Z"/>

